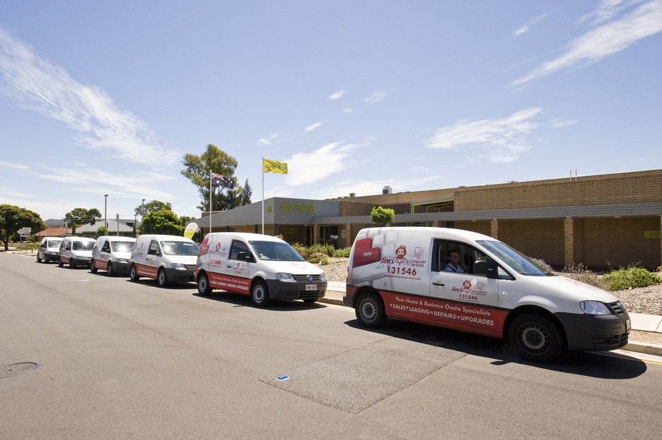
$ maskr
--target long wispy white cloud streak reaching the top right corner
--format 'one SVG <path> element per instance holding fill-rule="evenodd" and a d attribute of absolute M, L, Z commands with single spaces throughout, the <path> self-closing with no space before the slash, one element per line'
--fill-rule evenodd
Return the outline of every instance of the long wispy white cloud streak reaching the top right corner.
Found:
<path fill-rule="evenodd" d="M 589 66 L 658 32 L 662 32 L 662 0 L 649 1 L 620 20 L 597 27 L 574 39 L 564 54 L 541 64 L 511 85 L 522 85 L 572 66 Z"/>

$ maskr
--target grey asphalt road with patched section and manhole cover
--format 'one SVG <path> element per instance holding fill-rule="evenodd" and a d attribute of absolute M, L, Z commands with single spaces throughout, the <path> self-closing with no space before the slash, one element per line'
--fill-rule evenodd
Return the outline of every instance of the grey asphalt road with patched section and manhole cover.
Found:
<path fill-rule="evenodd" d="M 0 253 L 0 439 L 657 439 L 662 366 Z M 30 362 L 33 362 L 32 364 Z M 285 380 L 283 377 L 287 377 Z"/>

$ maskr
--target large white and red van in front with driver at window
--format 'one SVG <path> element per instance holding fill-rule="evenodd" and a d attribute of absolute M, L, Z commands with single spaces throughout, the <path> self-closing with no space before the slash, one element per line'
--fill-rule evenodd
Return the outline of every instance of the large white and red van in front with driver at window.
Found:
<path fill-rule="evenodd" d="M 366 327 L 395 317 L 508 338 L 535 362 L 565 350 L 615 350 L 630 333 L 630 317 L 614 295 L 459 229 L 362 229 L 343 300 Z"/>

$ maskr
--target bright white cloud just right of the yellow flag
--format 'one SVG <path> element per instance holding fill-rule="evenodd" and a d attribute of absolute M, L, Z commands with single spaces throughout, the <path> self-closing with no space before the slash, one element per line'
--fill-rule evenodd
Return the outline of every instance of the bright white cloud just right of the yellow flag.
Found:
<path fill-rule="evenodd" d="M 367 144 L 367 142 L 366 142 Z M 354 150 L 366 144 L 333 142 L 310 153 L 294 154 L 287 160 L 287 185 L 310 185 L 334 173 L 344 171 L 353 161 Z"/>

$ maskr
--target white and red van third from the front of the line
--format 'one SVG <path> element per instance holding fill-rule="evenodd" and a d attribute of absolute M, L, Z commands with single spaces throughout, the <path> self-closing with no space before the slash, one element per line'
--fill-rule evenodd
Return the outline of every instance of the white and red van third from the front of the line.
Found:
<path fill-rule="evenodd" d="M 140 276 L 156 279 L 159 286 L 194 281 L 198 246 L 190 238 L 145 234 L 133 243 L 128 275 L 131 281 Z"/>

